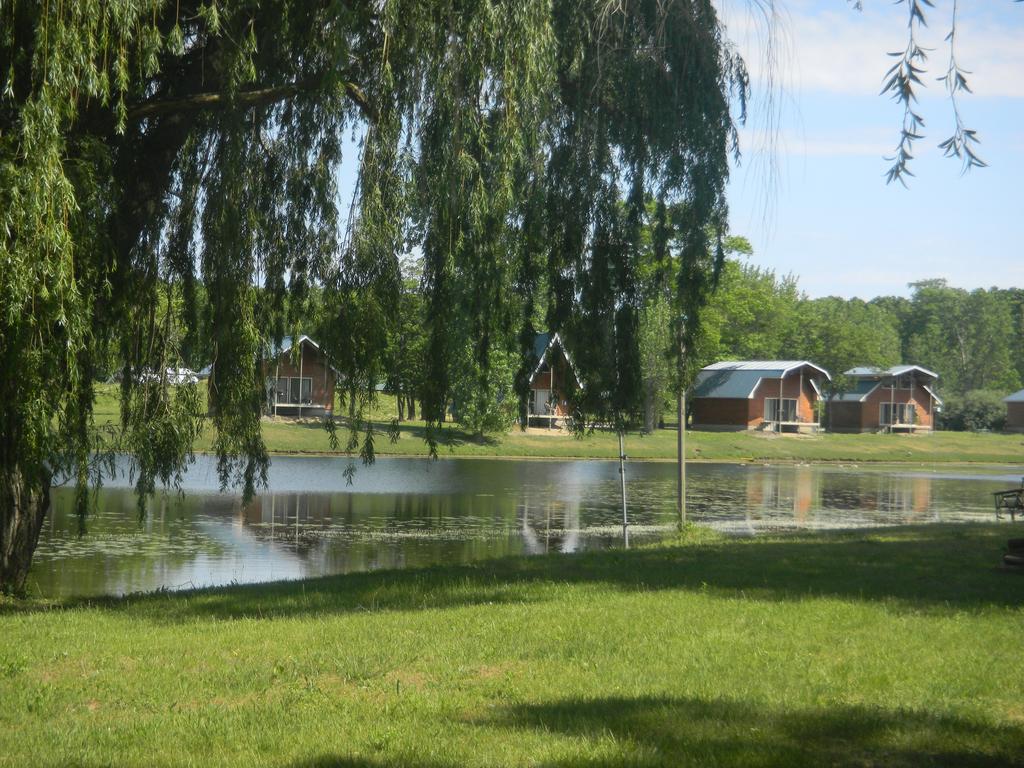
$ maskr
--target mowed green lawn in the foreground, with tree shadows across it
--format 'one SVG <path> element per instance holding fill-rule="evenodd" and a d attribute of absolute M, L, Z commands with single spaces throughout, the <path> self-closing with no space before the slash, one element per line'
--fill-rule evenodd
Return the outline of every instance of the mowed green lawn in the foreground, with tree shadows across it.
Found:
<path fill-rule="evenodd" d="M 1024 765 L 1015 531 L 0 603 L 0 765 Z"/>

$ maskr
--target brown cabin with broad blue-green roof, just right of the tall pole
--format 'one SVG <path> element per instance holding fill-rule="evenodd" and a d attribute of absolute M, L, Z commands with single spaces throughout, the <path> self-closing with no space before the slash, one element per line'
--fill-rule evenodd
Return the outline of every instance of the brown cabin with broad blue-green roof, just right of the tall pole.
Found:
<path fill-rule="evenodd" d="M 697 374 L 691 424 L 703 430 L 815 432 L 828 372 L 807 360 L 728 360 Z"/>

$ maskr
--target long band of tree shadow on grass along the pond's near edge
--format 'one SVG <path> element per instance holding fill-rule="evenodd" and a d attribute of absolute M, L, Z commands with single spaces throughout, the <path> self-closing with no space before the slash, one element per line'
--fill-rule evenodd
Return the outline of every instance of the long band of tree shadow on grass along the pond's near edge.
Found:
<path fill-rule="evenodd" d="M 560 585 L 689 590 L 767 601 L 836 597 L 894 609 L 978 610 L 1024 603 L 1024 573 L 999 569 L 1005 525 L 929 525 L 632 551 L 509 557 L 195 592 L 78 600 L 173 623 L 415 610 L 551 599 Z M 0 604 L 0 613 L 18 610 Z M 32 609 L 32 608 L 28 608 Z"/>

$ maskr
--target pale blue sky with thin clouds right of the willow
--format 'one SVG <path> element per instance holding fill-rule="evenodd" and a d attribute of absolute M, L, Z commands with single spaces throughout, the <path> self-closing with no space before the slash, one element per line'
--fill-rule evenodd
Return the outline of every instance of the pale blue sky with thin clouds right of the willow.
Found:
<path fill-rule="evenodd" d="M 778 3 L 775 112 L 765 99 L 763 20 L 752 0 L 718 4 L 753 76 L 729 200 L 732 230 L 751 239 L 755 263 L 792 272 L 814 297 L 906 295 L 907 283 L 928 278 L 1024 287 L 1024 4 L 959 0 L 957 58 L 975 91 L 961 97 L 961 113 L 989 164 L 961 175 L 937 147 L 953 118 L 936 81 L 952 3 L 936 0 L 923 35 L 934 48 L 920 104 L 926 137 L 908 189 L 885 183 L 902 112 L 879 95 L 886 52 L 906 42 L 904 4 L 863 0 L 858 12 L 844 0 Z"/>

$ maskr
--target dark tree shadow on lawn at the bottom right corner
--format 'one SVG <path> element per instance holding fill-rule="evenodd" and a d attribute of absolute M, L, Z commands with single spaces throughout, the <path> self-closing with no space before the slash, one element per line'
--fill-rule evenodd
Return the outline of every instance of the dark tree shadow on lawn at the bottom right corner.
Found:
<path fill-rule="evenodd" d="M 582 737 L 610 736 L 622 759 L 558 766 L 1024 765 L 1024 728 L 867 707 L 793 711 L 699 698 L 564 699 L 513 706 L 482 725 Z"/>

